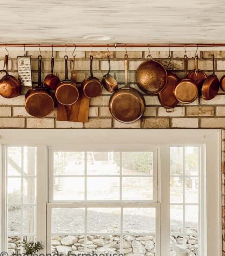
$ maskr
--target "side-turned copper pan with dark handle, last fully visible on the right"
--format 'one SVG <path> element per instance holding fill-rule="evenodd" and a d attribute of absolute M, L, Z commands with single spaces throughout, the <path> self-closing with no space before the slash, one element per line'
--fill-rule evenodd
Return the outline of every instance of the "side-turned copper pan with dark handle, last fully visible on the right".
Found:
<path fill-rule="evenodd" d="M 206 101 L 212 100 L 218 94 L 218 91 L 219 91 L 220 82 L 218 77 L 215 75 L 214 55 L 212 55 L 212 61 L 213 61 L 212 75 L 208 76 L 205 79 L 203 88 L 201 90 L 202 97 Z"/>

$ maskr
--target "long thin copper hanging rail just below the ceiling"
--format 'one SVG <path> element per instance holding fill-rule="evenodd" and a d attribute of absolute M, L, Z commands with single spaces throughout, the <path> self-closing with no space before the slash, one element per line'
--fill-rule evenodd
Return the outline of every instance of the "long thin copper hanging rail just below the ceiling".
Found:
<path fill-rule="evenodd" d="M 225 43 L 206 43 L 206 44 L 11 44 L 0 43 L 0 47 L 225 47 Z"/>

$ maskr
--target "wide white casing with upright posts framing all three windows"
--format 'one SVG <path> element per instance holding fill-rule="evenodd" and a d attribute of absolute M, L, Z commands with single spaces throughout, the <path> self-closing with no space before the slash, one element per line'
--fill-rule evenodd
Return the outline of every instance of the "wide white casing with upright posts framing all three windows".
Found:
<path fill-rule="evenodd" d="M 46 245 L 46 203 L 48 176 L 48 146 L 76 145 L 92 150 L 93 146 L 112 151 L 118 145 L 126 145 L 127 150 L 133 146 L 159 146 L 159 183 L 160 191 L 160 252 L 161 256 L 168 255 L 170 230 L 169 215 L 165 210 L 169 207 L 169 146 L 200 145 L 204 151 L 203 168 L 206 170 L 206 254 L 207 256 L 221 256 L 221 130 L 220 129 L 2 129 L 0 130 L 1 156 L 4 156 L 4 145 L 37 146 L 37 239 Z M 57 142 L 57 143 L 56 143 Z M 188 142 L 188 145 L 187 145 Z M 168 146 L 169 145 L 169 146 Z M 4 179 L 4 161 L 1 160 L 1 179 Z M 4 187 L 2 187 L 4 190 Z M 4 191 L 3 191 L 4 192 Z M 4 220 L 4 193 L 1 198 L 1 215 Z M 43 214 L 40 214 L 43 212 Z M 4 221 L 1 223 L 2 238 L 4 236 Z M 4 239 L 1 239 L 3 241 Z M 4 242 L 1 250 L 5 249 Z M 46 247 L 45 250 L 46 251 Z M 205 256 L 204 255 L 204 256 Z"/>

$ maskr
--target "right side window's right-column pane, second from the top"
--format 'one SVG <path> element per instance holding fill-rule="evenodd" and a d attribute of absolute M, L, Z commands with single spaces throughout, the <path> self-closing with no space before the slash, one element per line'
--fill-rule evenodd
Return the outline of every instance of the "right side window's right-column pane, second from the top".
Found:
<path fill-rule="evenodd" d="M 185 202 L 198 203 L 198 178 L 185 179 Z"/>

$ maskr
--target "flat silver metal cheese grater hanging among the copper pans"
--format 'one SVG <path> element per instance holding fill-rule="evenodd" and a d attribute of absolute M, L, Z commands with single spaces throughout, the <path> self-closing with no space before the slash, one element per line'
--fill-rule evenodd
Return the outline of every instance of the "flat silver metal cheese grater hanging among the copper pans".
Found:
<path fill-rule="evenodd" d="M 21 85 L 32 86 L 31 56 L 17 57 L 18 78 Z"/>

